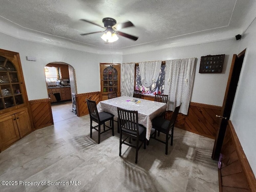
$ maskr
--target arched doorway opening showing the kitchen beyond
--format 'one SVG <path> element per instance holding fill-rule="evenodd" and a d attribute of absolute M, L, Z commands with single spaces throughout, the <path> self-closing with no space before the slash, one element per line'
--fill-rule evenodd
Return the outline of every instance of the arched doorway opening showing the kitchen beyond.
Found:
<path fill-rule="evenodd" d="M 44 67 L 48 97 L 51 100 L 53 122 L 74 118 L 73 98 L 76 77 L 73 66 L 64 62 L 48 63 Z"/>

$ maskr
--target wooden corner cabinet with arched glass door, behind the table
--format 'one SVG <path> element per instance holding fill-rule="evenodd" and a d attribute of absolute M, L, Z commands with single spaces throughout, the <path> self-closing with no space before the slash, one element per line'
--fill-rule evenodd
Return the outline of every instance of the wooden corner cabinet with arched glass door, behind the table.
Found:
<path fill-rule="evenodd" d="M 107 100 L 110 92 L 117 92 L 117 95 L 120 96 L 120 73 L 120 64 L 100 63 L 102 100 Z"/>

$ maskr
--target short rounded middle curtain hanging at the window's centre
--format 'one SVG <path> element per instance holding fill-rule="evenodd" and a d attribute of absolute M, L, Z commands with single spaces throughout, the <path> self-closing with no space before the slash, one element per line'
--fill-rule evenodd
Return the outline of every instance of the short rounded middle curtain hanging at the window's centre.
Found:
<path fill-rule="evenodd" d="M 150 87 L 158 80 L 162 61 L 139 62 L 142 85 Z"/>

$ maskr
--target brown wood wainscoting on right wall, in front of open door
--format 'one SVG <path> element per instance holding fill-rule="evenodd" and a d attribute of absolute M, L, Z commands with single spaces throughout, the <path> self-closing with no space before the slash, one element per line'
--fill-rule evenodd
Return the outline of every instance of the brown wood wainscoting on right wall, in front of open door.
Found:
<path fill-rule="evenodd" d="M 231 121 L 228 121 L 221 153 L 220 192 L 256 192 L 255 176 Z"/>

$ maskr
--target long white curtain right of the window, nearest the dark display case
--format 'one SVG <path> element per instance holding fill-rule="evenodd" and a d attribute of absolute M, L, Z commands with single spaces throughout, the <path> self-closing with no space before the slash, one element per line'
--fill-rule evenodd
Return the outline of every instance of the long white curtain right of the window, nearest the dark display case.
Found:
<path fill-rule="evenodd" d="M 167 109 L 174 111 L 180 107 L 180 113 L 188 114 L 188 107 L 194 83 L 196 58 L 176 59 L 166 61 L 164 94 L 168 94 Z"/>

